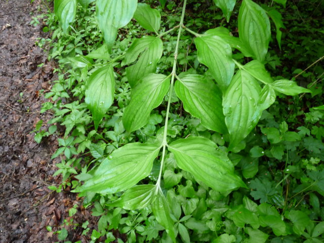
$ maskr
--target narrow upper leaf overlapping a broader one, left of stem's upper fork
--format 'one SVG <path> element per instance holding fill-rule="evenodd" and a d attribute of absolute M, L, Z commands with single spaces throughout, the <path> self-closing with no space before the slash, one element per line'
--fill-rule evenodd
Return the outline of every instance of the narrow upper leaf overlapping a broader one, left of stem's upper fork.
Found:
<path fill-rule="evenodd" d="M 121 65 L 129 65 L 130 63 L 134 62 L 138 55 L 144 52 L 152 42 L 154 42 L 156 37 L 145 35 L 140 39 L 135 39 L 129 49 L 127 49 L 125 58 Z"/>

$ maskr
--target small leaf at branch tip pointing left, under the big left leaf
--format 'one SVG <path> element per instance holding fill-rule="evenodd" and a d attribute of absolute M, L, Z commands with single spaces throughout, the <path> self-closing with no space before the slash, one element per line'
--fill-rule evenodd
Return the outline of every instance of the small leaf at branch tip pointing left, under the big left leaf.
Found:
<path fill-rule="evenodd" d="M 138 185 L 134 186 L 127 191 L 110 206 L 120 207 L 126 210 L 137 210 L 147 207 L 154 195 L 154 185 Z"/>

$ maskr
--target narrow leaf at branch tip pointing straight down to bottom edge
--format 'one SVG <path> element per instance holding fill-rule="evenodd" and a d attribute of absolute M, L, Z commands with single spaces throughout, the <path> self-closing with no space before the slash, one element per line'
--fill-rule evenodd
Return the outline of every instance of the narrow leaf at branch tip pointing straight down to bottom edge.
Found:
<path fill-rule="evenodd" d="M 165 227 L 167 233 L 171 237 L 174 243 L 176 243 L 176 236 L 174 232 L 174 223 L 170 216 L 170 207 L 168 201 L 164 196 L 161 188 L 158 188 L 157 195 L 152 202 L 152 212 L 155 216 L 156 221 Z"/>

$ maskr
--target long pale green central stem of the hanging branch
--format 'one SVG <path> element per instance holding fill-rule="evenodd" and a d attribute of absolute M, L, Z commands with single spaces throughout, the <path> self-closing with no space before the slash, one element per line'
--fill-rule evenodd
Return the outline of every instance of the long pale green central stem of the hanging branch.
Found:
<path fill-rule="evenodd" d="M 182 7 L 181 20 L 180 20 L 180 24 L 179 24 L 176 50 L 174 52 L 173 68 L 172 68 L 172 73 L 171 73 L 171 84 L 170 84 L 170 89 L 169 89 L 169 99 L 168 99 L 168 105 L 167 105 L 166 120 L 165 120 L 163 142 L 162 142 L 163 149 L 162 149 L 161 166 L 160 166 L 160 171 L 158 174 L 158 179 L 156 182 L 155 194 L 157 194 L 158 189 L 160 188 L 161 176 L 162 176 L 162 171 L 163 171 L 165 156 L 166 156 L 166 147 L 168 145 L 167 134 L 168 134 L 169 112 L 170 112 L 171 98 L 172 98 L 172 93 L 173 93 L 174 78 L 176 76 L 176 70 L 177 70 L 177 58 L 178 58 L 178 51 L 179 51 L 179 43 L 180 43 L 180 37 L 181 37 L 181 30 L 183 28 L 183 20 L 184 20 L 186 5 L 187 5 L 187 0 L 184 0 L 183 7 Z"/>

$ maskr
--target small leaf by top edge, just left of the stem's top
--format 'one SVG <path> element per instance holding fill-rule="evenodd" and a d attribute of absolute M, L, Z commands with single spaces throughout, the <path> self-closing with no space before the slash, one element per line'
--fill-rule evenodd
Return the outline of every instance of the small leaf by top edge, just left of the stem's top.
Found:
<path fill-rule="evenodd" d="M 134 18 L 144 29 L 149 31 L 157 33 L 160 28 L 160 13 L 156 9 L 151 9 L 147 4 L 137 4 Z"/>

